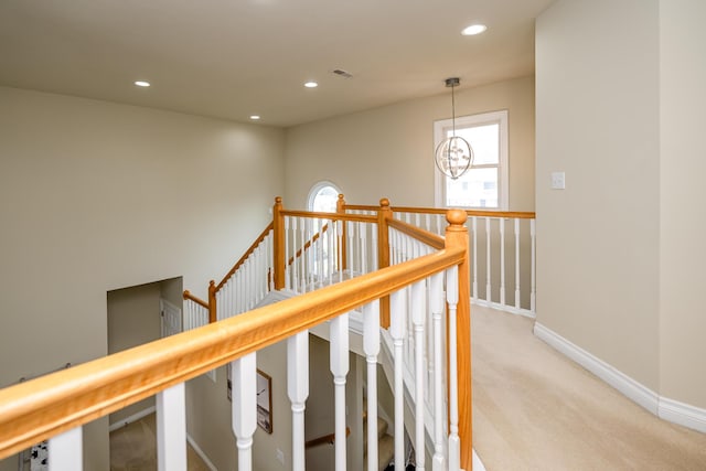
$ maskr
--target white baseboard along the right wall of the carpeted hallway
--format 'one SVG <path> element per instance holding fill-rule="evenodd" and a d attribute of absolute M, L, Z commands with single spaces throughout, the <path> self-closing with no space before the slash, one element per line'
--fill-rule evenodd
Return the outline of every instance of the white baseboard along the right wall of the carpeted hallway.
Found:
<path fill-rule="evenodd" d="M 621 371 L 542 325 L 539 322 L 535 322 L 534 324 L 534 334 L 655 416 L 700 432 L 706 432 L 706 409 L 660 396 L 654 390 L 638 383 Z"/>

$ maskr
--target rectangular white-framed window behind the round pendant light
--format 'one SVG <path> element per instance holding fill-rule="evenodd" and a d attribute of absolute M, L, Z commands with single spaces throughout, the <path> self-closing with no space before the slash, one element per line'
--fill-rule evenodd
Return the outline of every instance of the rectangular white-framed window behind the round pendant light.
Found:
<path fill-rule="evenodd" d="M 451 119 L 436 121 L 435 149 L 452 135 Z M 457 180 L 435 165 L 437 206 L 507 210 L 507 111 L 458 117 L 456 135 L 473 148 L 473 165 Z"/>

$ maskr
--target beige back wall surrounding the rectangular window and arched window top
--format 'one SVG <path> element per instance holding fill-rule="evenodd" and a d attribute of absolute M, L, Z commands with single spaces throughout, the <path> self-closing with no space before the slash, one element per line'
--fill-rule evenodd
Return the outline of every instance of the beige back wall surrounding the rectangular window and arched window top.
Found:
<path fill-rule="evenodd" d="M 434 97 L 288 129 L 285 206 L 306 207 L 320 180 L 339 185 L 353 204 L 386 196 L 432 206 L 434 121 L 451 117 L 443 78 Z M 534 77 L 460 88 L 456 109 L 458 116 L 509 110 L 510 208 L 534 211 Z"/>

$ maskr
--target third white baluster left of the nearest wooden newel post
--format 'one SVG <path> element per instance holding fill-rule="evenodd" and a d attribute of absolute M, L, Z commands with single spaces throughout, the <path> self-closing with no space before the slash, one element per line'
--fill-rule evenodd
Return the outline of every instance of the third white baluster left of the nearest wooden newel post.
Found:
<path fill-rule="evenodd" d="M 415 330 L 415 449 L 419 450 L 417 470 L 425 467 L 425 429 L 424 429 L 424 318 L 425 318 L 425 281 L 411 286 L 411 322 Z"/>

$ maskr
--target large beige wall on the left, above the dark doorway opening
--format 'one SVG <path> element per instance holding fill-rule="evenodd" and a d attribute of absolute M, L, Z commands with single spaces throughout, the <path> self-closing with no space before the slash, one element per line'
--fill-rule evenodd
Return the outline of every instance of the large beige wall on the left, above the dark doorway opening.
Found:
<path fill-rule="evenodd" d="M 284 192 L 280 129 L 13 88 L 0 104 L 0 386 L 105 355 L 107 291 L 183 276 L 204 297 Z"/>

